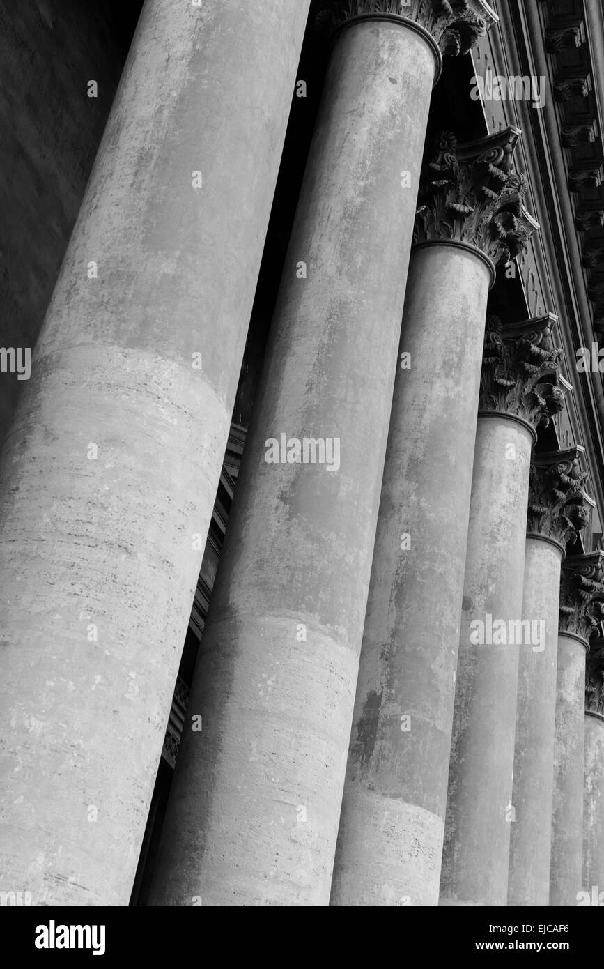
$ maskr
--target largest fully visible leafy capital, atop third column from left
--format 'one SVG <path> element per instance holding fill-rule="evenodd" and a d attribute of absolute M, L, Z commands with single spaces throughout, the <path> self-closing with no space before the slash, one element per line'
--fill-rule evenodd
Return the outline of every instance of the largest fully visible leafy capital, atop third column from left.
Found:
<path fill-rule="evenodd" d="M 527 181 L 512 172 L 521 132 L 457 142 L 443 132 L 424 168 L 415 217 L 415 242 L 465 242 L 495 264 L 515 259 L 537 223 L 523 203 Z"/>

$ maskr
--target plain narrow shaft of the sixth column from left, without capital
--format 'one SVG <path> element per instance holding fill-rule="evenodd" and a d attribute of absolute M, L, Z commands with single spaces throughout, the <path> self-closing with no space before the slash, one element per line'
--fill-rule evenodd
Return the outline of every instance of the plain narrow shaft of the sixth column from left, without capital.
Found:
<path fill-rule="evenodd" d="M 587 641 L 560 632 L 550 905 L 577 904 L 582 887 Z"/>

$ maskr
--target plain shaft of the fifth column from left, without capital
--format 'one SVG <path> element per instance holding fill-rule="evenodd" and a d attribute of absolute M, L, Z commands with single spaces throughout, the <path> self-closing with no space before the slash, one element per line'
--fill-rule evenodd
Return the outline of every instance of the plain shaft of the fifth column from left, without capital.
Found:
<path fill-rule="evenodd" d="M 528 535 L 522 615 L 531 629 L 520 649 L 508 905 L 549 902 L 562 554 L 558 543 Z"/>

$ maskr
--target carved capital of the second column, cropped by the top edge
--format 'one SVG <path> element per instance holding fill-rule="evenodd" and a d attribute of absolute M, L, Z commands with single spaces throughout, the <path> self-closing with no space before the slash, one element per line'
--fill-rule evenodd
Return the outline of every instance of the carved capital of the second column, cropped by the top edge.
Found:
<path fill-rule="evenodd" d="M 331 0 L 317 15 L 317 27 L 333 31 L 354 16 L 405 16 L 428 30 L 443 54 L 468 53 L 498 16 L 484 0 Z"/>

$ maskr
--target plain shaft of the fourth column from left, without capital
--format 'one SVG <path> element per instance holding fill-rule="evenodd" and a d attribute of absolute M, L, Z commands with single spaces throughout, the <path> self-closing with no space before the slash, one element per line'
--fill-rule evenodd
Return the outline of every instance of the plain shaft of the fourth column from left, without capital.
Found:
<path fill-rule="evenodd" d="M 532 445 L 526 422 L 478 419 L 440 904 L 505 905 L 519 646 L 473 644 L 522 617 Z M 489 637 L 486 638 L 487 640 Z M 505 642 L 503 640 L 503 642 Z"/>

